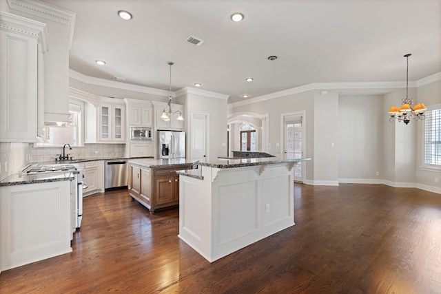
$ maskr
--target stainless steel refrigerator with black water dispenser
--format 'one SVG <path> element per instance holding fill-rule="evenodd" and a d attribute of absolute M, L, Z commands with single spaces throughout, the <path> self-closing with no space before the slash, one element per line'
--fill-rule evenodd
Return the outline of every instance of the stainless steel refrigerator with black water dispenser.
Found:
<path fill-rule="evenodd" d="M 185 158 L 185 132 L 158 131 L 158 158 Z"/>

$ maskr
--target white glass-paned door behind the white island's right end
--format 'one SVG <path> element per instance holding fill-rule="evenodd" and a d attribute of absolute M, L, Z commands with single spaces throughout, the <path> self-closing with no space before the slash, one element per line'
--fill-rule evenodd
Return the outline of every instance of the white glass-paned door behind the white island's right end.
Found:
<path fill-rule="evenodd" d="M 302 115 L 288 115 L 283 118 L 284 129 L 284 152 L 287 158 L 303 158 L 304 151 L 304 126 L 302 125 Z M 298 162 L 294 167 L 294 180 L 305 182 L 305 165 Z"/>

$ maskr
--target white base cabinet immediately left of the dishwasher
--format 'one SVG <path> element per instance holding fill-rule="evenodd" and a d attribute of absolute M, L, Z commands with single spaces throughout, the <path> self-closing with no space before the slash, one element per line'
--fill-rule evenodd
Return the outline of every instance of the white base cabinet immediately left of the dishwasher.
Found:
<path fill-rule="evenodd" d="M 80 166 L 83 168 L 83 180 L 88 186 L 88 188 L 83 189 L 83 196 L 104 191 L 104 161 L 83 162 Z"/>

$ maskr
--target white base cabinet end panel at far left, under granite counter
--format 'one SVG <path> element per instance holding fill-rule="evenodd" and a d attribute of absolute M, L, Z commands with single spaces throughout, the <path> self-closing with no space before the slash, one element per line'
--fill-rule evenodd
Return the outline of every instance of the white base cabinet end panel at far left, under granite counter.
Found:
<path fill-rule="evenodd" d="M 70 181 L 0 187 L 0 272 L 72 252 Z"/>

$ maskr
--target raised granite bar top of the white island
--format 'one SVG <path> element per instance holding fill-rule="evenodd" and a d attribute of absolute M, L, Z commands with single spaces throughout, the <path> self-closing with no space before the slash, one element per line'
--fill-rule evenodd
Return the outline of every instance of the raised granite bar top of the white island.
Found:
<path fill-rule="evenodd" d="M 214 167 L 216 169 L 232 169 L 234 167 L 253 167 L 256 165 L 278 165 L 280 163 L 307 161 L 311 158 L 277 158 L 277 157 L 265 157 L 265 158 L 240 158 L 240 159 L 220 159 L 216 162 L 199 162 L 198 165 L 202 167 Z M 225 162 L 225 163 L 224 163 Z"/>

